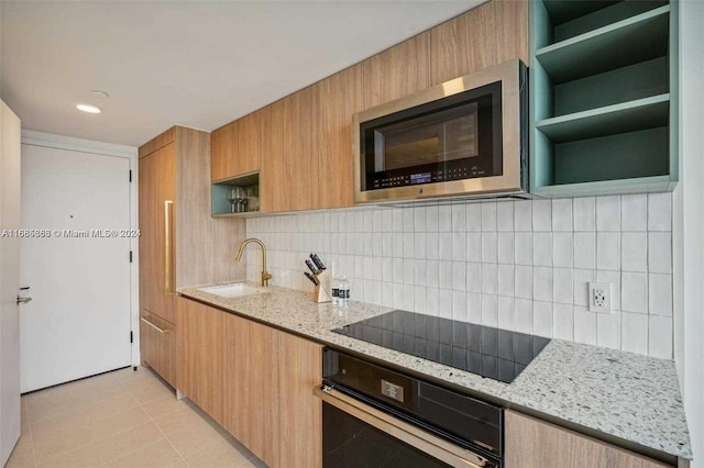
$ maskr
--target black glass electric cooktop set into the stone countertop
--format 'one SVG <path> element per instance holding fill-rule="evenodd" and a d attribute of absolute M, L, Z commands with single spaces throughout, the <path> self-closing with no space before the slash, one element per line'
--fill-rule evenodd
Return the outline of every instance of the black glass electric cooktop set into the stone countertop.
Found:
<path fill-rule="evenodd" d="M 507 383 L 550 343 L 541 336 L 400 310 L 333 332 Z"/>

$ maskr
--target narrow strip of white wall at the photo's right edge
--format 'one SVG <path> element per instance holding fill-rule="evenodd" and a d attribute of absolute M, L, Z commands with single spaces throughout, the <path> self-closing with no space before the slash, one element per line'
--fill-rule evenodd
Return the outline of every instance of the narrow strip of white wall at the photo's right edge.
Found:
<path fill-rule="evenodd" d="M 680 3 L 681 165 L 673 194 L 675 361 L 694 450 L 704 467 L 704 2 Z"/>

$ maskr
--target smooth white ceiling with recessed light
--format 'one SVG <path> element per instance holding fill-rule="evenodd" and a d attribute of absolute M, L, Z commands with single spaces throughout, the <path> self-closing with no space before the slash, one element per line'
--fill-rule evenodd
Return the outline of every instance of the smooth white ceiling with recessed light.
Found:
<path fill-rule="evenodd" d="M 23 129 L 139 146 L 212 131 L 483 1 L 2 1 L 0 94 Z"/>

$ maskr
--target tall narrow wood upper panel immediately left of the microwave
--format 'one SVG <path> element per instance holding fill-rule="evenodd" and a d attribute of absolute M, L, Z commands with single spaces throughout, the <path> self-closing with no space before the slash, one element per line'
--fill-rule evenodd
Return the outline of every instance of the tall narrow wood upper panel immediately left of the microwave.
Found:
<path fill-rule="evenodd" d="M 363 109 L 362 66 L 356 65 L 320 81 L 318 208 L 354 204 L 352 115 Z"/>

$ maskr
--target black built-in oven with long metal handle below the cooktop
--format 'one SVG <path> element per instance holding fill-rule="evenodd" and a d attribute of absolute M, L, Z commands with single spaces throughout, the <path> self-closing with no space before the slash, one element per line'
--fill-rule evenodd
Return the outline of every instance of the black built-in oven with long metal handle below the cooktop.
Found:
<path fill-rule="evenodd" d="M 323 468 L 502 465 L 503 410 L 323 350 Z"/>

